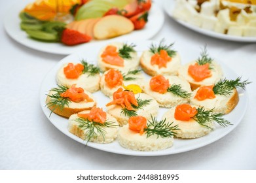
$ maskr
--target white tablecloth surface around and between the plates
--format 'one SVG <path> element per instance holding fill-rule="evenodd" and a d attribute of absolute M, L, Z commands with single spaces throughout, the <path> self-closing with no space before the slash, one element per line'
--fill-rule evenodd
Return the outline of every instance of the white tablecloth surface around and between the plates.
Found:
<path fill-rule="evenodd" d="M 1 1 L 1 22 L 13 3 Z M 155 3 L 162 8 L 161 0 Z M 211 55 L 253 82 L 246 89 L 246 115 L 236 129 L 207 146 L 169 156 L 124 156 L 84 146 L 56 129 L 39 103 L 43 78 L 65 56 L 22 46 L 1 24 L 0 169 L 256 169 L 256 44 L 207 37 L 164 16 L 164 26 L 153 40 L 164 37 L 198 48 L 207 44 Z"/>

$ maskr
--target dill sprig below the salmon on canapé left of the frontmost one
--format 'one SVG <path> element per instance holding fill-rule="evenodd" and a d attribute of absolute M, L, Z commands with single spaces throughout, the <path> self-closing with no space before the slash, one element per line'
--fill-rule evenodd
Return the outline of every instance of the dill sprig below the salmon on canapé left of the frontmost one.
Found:
<path fill-rule="evenodd" d="M 103 124 L 100 124 L 85 118 L 77 118 L 75 121 L 79 123 L 80 129 L 87 130 L 87 133 L 86 133 L 87 142 L 89 142 L 90 139 L 92 138 L 96 139 L 98 136 L 103 137 L 103 140 L 105 140 L 106 131 L 104 127 L 119 126 L 119 125 L 115 125 L 115 122 L 111 122 L 111 121 L 106 121 Z"/>

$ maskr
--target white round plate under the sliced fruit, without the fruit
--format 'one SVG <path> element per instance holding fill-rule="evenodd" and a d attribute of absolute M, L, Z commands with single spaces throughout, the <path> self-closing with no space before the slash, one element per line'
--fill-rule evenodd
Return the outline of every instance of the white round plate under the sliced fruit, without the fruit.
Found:
<path fill-rule="evenodd" d="M 61 43 L 56 42 L 41 42 L 36 41 L 35 39 L 30 39 L 25 31 L 20 29 L 20 18 L 19 13 L 22 9 L 26 7 L 28 3 L 33 2 L 33 0 L 19 1 L 16 2 L 10 10 L 7 11 L 4 18 L 4 27 L 7 33 L 12 39 L 27 46 L 29 48 L 39 50 L 42 52 L 48 52 L 51 54 L 61 54 L 69 55 L 74 52 L 77 52 L 79 49 L 87 49 L 91 44 L 98 42 L 107 42 L 111 41 L 125 41 L 125 40 L 146 40 L 150 39 L 161 29 L 164 24 L 164 13 L 160 8 L 153 3 L 152 8 L 149 12 L 149 21 L 147 22 L 144 29 L 132 31 L 132 33 L 127 35 L 122 35 L 120 37 L 115 37 L 113 39 L 104 40 L 104 41 L 90 41 L 85 44 L 79 44 L 76 46 L 65 46 Z"/>

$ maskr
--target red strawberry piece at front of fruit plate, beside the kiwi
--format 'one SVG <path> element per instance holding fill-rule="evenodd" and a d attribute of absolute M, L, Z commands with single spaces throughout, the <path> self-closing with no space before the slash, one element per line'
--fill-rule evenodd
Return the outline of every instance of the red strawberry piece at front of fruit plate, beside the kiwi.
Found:
<path fill-rule="evenodd" d="M 60 41 L 68 46 L 89 42 L 91 39 L 92 37 L 72 29 L 64 29 L 60 37 Z"/>

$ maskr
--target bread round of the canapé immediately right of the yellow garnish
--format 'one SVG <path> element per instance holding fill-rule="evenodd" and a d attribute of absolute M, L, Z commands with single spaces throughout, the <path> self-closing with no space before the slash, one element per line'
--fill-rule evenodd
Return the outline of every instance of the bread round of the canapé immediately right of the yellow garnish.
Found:
<path fill-rule="evenodd" d="M 179 78 L 178 76 L 164 76 L 164 78 L 169 80 L 170 85 L 172 84 L 180 84 L 181 88 L 187 92 L 191 92 L 191 86 L 189 85 L 189 82 L 186 80 Z M 148 95 L 151 95 L 156 101 L 158 102 L 160 107 L 175 107 L 176 105 L 182 104 L 182 103 L 188 103 L 189 98 L 185 99 L 182 97 L 179 97 L 177 95 L 174 95 L 174 93 L 166 92 L 166 93 L 158 93 L 151 90 L 149 86 L 149 82 L 147 82 L 145 86 L 145 93 Z"/>

